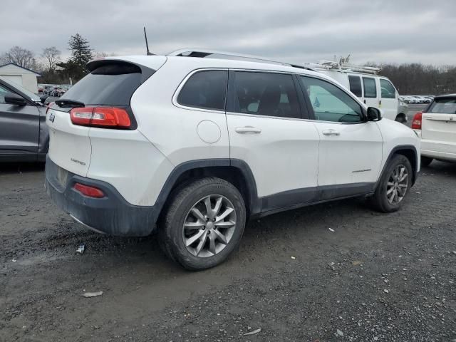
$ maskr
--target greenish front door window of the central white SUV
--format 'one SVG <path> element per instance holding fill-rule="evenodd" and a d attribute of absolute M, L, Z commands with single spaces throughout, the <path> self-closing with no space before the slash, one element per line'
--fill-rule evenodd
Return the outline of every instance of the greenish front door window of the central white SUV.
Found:
<path fill-rule="evenodd" d="M 301 76 L 301 81 L 309 95 L 316 120 L 338 123 L 361 121 L 361 106 L 345 91 L 318 78 Z"/>

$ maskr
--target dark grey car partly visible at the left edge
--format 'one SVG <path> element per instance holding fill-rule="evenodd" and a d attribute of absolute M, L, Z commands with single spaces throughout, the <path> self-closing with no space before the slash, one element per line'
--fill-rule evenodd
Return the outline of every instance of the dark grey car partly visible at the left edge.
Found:
<path fill-rule="evenodd" d="M 0 77 L 0 161 L 44 161 L 49 135 L 38 95 Z"/>

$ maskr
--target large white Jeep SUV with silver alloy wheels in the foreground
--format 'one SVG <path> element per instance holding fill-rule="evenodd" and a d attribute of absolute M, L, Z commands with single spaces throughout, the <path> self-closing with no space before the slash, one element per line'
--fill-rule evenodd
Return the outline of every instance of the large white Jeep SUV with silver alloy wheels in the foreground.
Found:
<path fill-rule="evenodd" d="M 420 168 L 413 130 L 307 68 L 181 50 L 88 70 L 48 108 L 47 192 L 98 232 L 157 231 L 187 269 L 226 259 L 249 217 L 360 195 L 393 212 Z"/>

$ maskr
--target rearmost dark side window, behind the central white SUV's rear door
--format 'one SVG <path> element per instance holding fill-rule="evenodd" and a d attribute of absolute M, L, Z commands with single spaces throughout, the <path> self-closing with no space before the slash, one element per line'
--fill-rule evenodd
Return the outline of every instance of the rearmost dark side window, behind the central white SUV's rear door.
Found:
<path fill-rule="evenodd" d="M 227 71 L 199 71 L 180 90 L 177 102 L 189 107 L 224 110 Z"/>

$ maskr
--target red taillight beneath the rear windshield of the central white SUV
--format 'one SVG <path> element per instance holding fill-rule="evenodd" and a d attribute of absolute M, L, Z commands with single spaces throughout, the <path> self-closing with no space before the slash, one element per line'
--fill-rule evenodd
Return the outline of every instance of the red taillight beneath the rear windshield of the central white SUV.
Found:
<path fill-rule="evenodd" d="M 117 107 L 81 107 L 70 110 L 71 122 L 74 125 L 130 128 L 130 116 L 123 108 Z"/>

